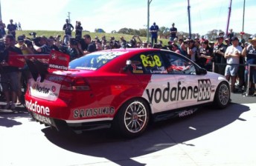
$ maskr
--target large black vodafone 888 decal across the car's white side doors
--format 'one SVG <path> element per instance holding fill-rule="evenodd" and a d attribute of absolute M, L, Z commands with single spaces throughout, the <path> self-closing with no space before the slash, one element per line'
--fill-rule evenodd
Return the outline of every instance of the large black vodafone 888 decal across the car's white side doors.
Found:
<path fill-rule="evenodd" d="M 211 98 L 211 81 L 200 79 L 198 85 L 188 87 L 182 86 L 182 82 L 170 87 L 170 82 L 167 82 L 167 87 L 163 90 L 161 88 L 146 89 L 146 93 L 150 104 L 188 99 L 197 99 L 197 102 L 201 102 Z"/>

